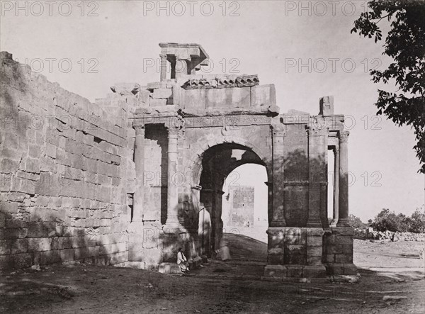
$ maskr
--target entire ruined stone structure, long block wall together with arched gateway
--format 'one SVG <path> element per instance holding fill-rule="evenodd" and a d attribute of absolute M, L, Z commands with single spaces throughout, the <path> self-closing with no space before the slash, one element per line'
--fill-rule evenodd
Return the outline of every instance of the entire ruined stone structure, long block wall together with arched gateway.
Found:
<path fill-rule="evenodd" d="M 264 276 L 356 274 L 348 132 L 333 97 L 316 116 L 280 114 L 257 75 L 198 75 L 200 45 L 160 47 L 160 82 L 115 84 L 96 103 L 1 52 L 1 268 L 79 260 L 172 272 L 178 247 L 196 266 L 220 245 L 225 178 L 254 163 L 268 175 Z"/>

